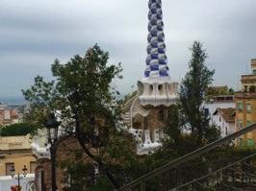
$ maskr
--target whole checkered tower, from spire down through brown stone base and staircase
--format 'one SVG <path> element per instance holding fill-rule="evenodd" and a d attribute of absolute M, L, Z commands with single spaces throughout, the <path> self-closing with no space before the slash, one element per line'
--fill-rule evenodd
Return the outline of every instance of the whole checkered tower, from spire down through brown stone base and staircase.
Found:
<path fill-rule="evenodd" d="M 176 104 L 177 83 L 168 74 L 161 0 L 148 3 L 147 57 L 144 77 L 138 81 L 138 93 L 124 106 L 124 130 L 135 137 L 137 154 L 147 155 L 162 146 L 163 121 L 168 107 Z M 122 128 L 121 125 L 118 125 Z"/>

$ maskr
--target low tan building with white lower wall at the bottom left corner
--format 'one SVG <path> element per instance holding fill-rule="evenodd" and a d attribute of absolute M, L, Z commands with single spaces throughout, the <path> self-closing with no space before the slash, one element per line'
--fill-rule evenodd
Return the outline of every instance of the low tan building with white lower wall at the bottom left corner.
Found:
<path fill-rule="evenodd" d="M 0 190 L 11 190 L 11 187 L 16 187 L 19 181 L 22 190 L 34 191 L 37 163 L 31 153 L 30 144 L 29 134 L 26 136 L 0 136 Z M 13 178 L 11 169 L 14 169 Z M 22 179 L 17 179 L 18 174 Z"/>

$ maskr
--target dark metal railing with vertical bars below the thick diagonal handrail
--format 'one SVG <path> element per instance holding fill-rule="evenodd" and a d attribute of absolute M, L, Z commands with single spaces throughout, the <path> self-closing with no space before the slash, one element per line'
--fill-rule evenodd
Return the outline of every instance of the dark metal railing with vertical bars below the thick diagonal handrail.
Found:
<path fill-rule="evenodd" d="M 187 180 L 186 182 L 182 181 L 168 190 L 190 190 L 190 188 L 194 190 L 202 190 L 203 188 L 207 190 L 221 190 L 225 188 L 242 190 L 239 187 L 246 187 L 247 190 L 248 186 L 254 187 L 255 190 L 256 166 L 253 165 L 256 160 L 255 156 L 256 153 L 242 159 L 239 158 L 238 160 L 232 157 L 185 166 L 184 168 L 190 170 L 195 165 L 199 165 L 200 168 L 199 170 L 197 169 L 197 172 L 192 172 L 192 179 L 185 179 Z M 207 169 L 207 172 L 204 172 L 205 169 Z"/>

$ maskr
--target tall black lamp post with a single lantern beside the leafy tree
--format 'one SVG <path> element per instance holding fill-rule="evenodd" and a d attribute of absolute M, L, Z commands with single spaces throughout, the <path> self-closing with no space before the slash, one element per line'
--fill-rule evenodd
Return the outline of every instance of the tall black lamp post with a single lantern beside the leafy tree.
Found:
<path fill-rule="evenodd" d="M 55 120 L 54 114 L 50 115 L 45 127 L 47 129 L 48 141 L 51 144 L 51 163 L 52 163 L 52 191 L 56 191 L 56 171 L 55 171 L 55 161 L 56 161 L 56 146 L 55 143 L 58 138 L 58 128 L 61 125 Z"/>

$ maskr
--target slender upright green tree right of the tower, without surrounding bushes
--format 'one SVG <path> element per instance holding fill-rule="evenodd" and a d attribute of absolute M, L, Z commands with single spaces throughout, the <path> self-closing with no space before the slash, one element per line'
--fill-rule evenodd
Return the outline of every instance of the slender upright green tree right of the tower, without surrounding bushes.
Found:
<path fill-rule="evenodd" d="M 202 107 L 204 90 L 213 82 L 215 70 L 209 70 L 205 60 L 207 53 L 202 49 L 200 41 L 194 41 L 192 47 L 192 59 L 189 62 L 189 72 L 180 84 L 179 109 L 182 116 L 183 127 L 192 131 L 191 136 L 196 140 L 196 147 L 200 147 L 204 140 L 208 140 L 210 129 L 209 114 Z M 212 132 L 212 131 L 211 131 Z M 214 137 L 216 138 L 216 137 Z M 209 141 L 209 140 L 208 140 Z"/>

